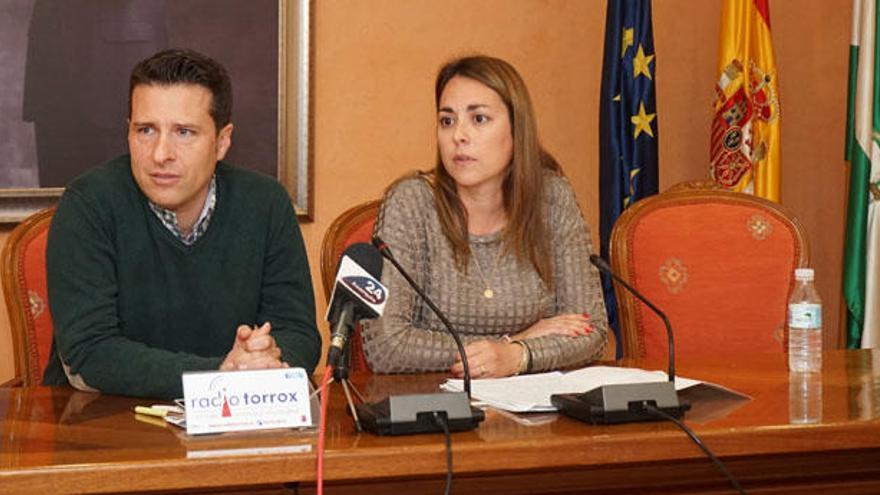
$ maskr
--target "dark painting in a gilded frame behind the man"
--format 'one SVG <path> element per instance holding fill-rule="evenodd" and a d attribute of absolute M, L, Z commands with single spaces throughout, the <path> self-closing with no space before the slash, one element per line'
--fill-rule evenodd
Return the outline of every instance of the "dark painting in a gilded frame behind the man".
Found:
<path fill-rule="evenodd" d="M 309 0 L 0 0 L 0 222 L 127 152 L 128 76 L 169 47 L 233 85 L 226 161 L 276 177 L 310 220 Z"/>

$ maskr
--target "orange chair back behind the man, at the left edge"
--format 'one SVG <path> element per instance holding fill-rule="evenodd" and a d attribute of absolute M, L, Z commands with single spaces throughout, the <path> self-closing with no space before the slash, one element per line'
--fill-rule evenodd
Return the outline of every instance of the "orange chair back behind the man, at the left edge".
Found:
<path fill-rule="evenodd" d="M 9 234 L 0 277 L 15 352 L 13 385 L 39 385 L 52 349 L 46 240 L 54 208 L 34 213 Z"/>

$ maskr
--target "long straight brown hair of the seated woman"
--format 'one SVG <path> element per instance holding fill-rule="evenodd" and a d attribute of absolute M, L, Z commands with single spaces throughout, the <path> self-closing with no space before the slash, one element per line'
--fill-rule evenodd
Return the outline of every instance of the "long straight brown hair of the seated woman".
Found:
<path fill-rule="evenodd" d="M 538 141 L 538 128 L 528 89 L 509 63 L 486 56 L 471 56 L 452 60 L 437 74 L 435 104 L 453 77 L 467 77 L 479 81 L 498 93 L 507 107 L 513 132 L 513 157 L 502 184 L 507 225 L 502 233 L 503 252 L 513 252 L 516 259 L 531 263 L 544 282 L 553 288 L 551 246 L 544 212 L 544 169 L 561 174 L 559 164 L 544 151 Z M 455 180 L 447 173 L 437 151 L 437 163 L 432 173 L 434 201 L 443 233 L 452 244 L 456 265 L 467 272 L 470 261 L 467 211 L 458 197 Z"/>

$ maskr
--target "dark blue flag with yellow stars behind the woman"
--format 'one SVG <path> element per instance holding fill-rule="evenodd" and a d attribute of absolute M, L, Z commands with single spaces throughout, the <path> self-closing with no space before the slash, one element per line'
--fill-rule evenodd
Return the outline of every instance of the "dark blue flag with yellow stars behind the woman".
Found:
<path fill-rule="evenodd" d="M 599 102 L 599 238 L 605 259 L 617 217 L 657 194 L 655 67 L 651 0 L 608 0 Z M 602 277 L 602 288 L 620 357 L 617 299 L 608 277 Z"/>

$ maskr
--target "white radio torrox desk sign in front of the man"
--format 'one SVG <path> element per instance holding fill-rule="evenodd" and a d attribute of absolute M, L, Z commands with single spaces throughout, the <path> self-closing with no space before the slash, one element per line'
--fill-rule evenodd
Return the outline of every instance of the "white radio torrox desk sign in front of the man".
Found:
<path fill-rule="evenodd" d="M 302 368 L 184 373 L 183 400 L 190 435 L 312 425 Z"/>

